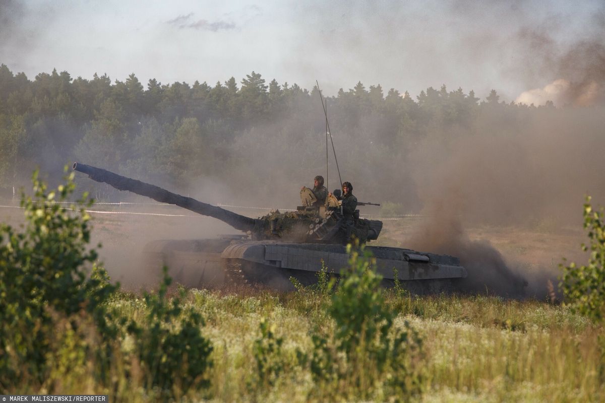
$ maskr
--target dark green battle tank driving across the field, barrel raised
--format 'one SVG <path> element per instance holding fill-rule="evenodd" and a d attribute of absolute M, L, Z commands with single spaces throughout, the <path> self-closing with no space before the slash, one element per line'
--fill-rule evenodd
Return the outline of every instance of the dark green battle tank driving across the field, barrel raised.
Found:
<path fill-rule="evenodd" d="M 302 205 L 295 211 L 275 210 L 250 218 L 105 169 L 80 163 L 74 163 L 73 169 L 118 190 L 174 204 L 241 231 L 217 239 L 157 240 L 146 245 L 144 253 L 152 268 L 166 265 L 178 283 L 195 288 L 261 284 L 287 290 L 293 288 L 291 277 L 309 285 L 322 262 L 335 273 L 347 265 L 348 242 L 371 243 L 382 230 L 381 221 L 359 218 L 359 210 L 353 219 L 345 219 L 333 195 L 326 205 L 313 205 L 313 193 L 307 188 L 301 190 Z M 466 277 L 457 257 L 394 247 L 366 245 L 365 249 L 376 258 L 377 271 L 387 285 L 397 276 L 414 294 L 450 291 L 457 279 Z"/>

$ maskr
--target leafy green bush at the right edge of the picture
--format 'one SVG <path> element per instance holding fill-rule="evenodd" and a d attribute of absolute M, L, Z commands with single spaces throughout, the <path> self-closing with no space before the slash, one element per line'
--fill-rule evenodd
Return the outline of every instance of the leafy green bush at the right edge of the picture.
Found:
<path fill-rule="evenodd" d="M 605 318 L 605 221 L 601 208 L 595 211 L 590 196 L 584 203 L 584 229 L 588 231 L 590 246 L 582 244 L 582 250 L 590 250 L 587 265 L 561 265 L 563 277 L 559 284 L 566 298 L 566 305 L 590 319 L 601 322 Z"/>

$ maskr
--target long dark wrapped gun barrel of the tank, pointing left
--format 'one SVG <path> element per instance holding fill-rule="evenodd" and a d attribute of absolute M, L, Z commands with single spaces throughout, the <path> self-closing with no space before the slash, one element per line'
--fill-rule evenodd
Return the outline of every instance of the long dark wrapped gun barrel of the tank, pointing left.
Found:
<path fill-rule="evenodd" d="M 105 182 L 118 190 L 128 190 L 129 192 L 147 196 L 148 198 L 161 203 L 175 204 L 178 205 L 178 207 L 186 208 L 194 213 L 219 219 L 220 221 L 231 225 L 231 227 L 234 227 L 236 230 L 244 232 L 254 231 L 256 227 L 263 223 L 261 220 L 242 216 L 233 211 L 224 210 L 224 208 L 177 195 L 176 193 L 168 192 L 168 190 L 162 189 L 161 187 L 137 181 L 136 179 L 126 178 L 125 176 L 117 175 L 117 173 L 105 169 L 80 163 L 74 163 L 73 169 L 87 174 L 93 181 Z"/>

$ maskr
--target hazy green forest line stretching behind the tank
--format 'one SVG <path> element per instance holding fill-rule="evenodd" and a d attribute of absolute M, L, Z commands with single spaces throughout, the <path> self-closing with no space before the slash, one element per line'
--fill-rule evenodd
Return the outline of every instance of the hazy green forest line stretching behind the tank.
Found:
<path fill-rule="evenodd" d="M 379 187 L 365 175 L 368 165 L 381 172 L 382 182 L 412 189 L 401 171 L 423 138 L 449 141 L 482 120 L 495 124 L 514 115 L 522 121 L 543 109 L 500 102 L 494 90 L 480 100 L 474 91 L 443 85 L 414 99 L 361 82 L 326 102 L 347 178 L 364 182 L 368 191 Z M 552 103 L 546 108 L 554 109 Z M 214 85 L 150 79 L 145 88 L 135 74 L 112 82 L 106 74 L 73 79 L 55 69 L 30 80 L 0 66 L 0 187 L 24 183 L 22 172 L 27 176 L 34 166 L 59 175 L 76 159 L 177 189 L 201 176 L 243 184 L 270 177 L 276 167 L 299 180 L 325 166 L 324 136 L 316 86 L 267 84 L 254 71 L 239 83 L 234 77 Z M 261 155 L 268 156 L 262 166 Z M 401 170 L 389 169 L 393 165 Z M 255 176 L 244 175 L 244 167 L 253 167 Z M 270 192 L 270 185 L 255 192 Z"/>

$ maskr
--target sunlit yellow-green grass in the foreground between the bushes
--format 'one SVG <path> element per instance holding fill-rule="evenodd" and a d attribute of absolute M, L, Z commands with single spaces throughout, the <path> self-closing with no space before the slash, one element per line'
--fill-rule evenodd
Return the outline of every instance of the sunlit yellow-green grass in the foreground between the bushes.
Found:
<path fill-rule="evenodd" d="M 499 297 L 406 297 L 387 292 L 396 309 L 396 326 L 408 320 L 424 340 L 426 373 L 422 401 L 459 402 L 586 402 L 603 401 L 603 329 L 566 308 L 542 301 L 514 301 Z M 296 367 L 296 350 L 312 348 L 315 329 L 333 331 L 325 313 L 325 298 L 303 294 L 238 289 L 237 292 L 190 290 L 186 305 L 206 320 L 203 335 L 212 341 L 214 367 L 211 387 L 192 399 L 211 401 L 290 401 L 341 398 L 347 385 L 317 390 L 309 373 Z M 115 308 L 141 318 L 141 298 L 122 295 Z M 257 390 L 257 364 L 252 345 L 266 319 L 284 339 L 283 358 L 290 368 L 273 387 Z M 136 343 L 126 340 L 125 343 Z M 136 379 L 136 376 L 133 377 Z M 70 383 L 70 382 L 68 382 Z M 79 385 L 78 382 L 76 385 Z M 142 385 L 124 385 L 119 401 L 143 401 Z M 72 390 L 62 392 L 76 392 Z M 95 388 L 93 387 L 93 390 Z M 101 392 L 96 390 L 96 392 Z M 379 400 L 394 396 L 379 396 Z"/>

